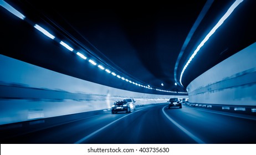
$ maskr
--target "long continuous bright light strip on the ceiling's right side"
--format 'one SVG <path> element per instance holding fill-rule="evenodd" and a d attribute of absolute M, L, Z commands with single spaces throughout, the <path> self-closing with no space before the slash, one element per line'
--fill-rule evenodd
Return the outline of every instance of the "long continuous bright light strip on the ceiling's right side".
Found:
<path fill-rule="evenodd" d="M 216 32 L 216 30 L 223 24 L 223 22 L 229 17 L 229 15 L 231 15 L 231 13 L 234 11 L 234 9 L 241 3 L 243 2 L 243 0 L 237 0 L 235 1 L 232 6 L 228 9 L 228 11 L 224 14 L 224 16 L 219 20 L 219 22 L 213 27 L 213 29 L 206 35 L 206 37 L 203 39 L 203 41 L 197 46 L 197 49 L 194 51 L 194 53 L 192 54 L 192 56 L 190 57 L 190 59 L 187 61 L 186 65 L 184 66 L 184 68 L 182 69 L 181 72 L 181 76 L 180 76 L 180 83 L 183 86 L 181 80 L 182 80 L 182 76 L 188 66 L 188 64 L 190 64 L 190 62 L 192 61 L 192 59 L 194 58 L 194 56 L 196 56 L 197 52 L 200 50 L 200 48 L 204 45 L 204 43 L 207 42 L 207 40 L 212 36 L 212 34 L 214 32 Z"/>

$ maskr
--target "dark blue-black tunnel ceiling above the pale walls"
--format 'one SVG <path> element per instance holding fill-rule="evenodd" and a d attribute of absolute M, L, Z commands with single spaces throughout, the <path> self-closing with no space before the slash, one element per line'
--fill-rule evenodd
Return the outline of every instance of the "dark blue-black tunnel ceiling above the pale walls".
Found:
<path fill-rule="evenodd" d="M 243 1 L 200 49 L 177 85 L 183 66 L 234 1 L 101 2 L 6 1 L 21 11 L 29 23 L 38 23 L 76 50 L 97 55 L 115 71 L 133 81 L 162 90 L 186 91 L 197 76 L 255 42 L 255 2 Z M 208 6 L 208 9 L 206 9 Z M 204 14 L 175 65 L 190 30 L 202 9 Z M 59 73 L 100 84 L 133 90 L 111 80 L 36 32 L 31 25 L 1 13 L 5 46 L 1 54 Z M 16 42 L 16 45 L 13 43 Z M 8 48 L 7 48 L 8 47 Z M 175 75 L 176 74 L 176 81 Z M 221 74 L 221 73 L 220 73 Z M 161 83 L 164 86 L 161 86 Z M 135 91 L 146 92 L 137 89 Z M 149 91 L 153 94 L 165 92 Z M 169 93 L 170 94 L 170 93 Z"/>

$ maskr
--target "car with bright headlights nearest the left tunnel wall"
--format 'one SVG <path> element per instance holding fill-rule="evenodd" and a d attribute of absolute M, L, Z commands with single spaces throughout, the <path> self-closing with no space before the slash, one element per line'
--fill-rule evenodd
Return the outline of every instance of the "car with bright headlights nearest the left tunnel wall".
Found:
<path fill-rule="evenodd" d="M 135 110 L 135 105 L 133 103 L 129 103 L 127 101 L 116 101 L 114 105 L 112 105 L 112 114 L 117 112 L 131 112 Z"/>

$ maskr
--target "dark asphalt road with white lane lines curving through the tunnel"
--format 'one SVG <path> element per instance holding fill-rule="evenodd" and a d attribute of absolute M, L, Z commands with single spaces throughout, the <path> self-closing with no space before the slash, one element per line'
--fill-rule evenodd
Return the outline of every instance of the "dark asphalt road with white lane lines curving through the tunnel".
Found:
<path fill-rule="evenodd" d="M 1 143 L 27 144 L 249 144 L 256 143 L 256 117 L 206 111 L 183 104 L 104 113 L 19 134 Z"/>

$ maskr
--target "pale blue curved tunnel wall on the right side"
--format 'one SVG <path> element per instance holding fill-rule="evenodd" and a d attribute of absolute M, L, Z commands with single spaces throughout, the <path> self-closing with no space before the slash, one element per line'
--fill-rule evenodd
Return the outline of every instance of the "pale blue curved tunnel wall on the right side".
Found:
<path fill-rule="evenodd" d="M 256 106 L 256 43 L 232 55 L 194 79 L 190 102 Z"/>

